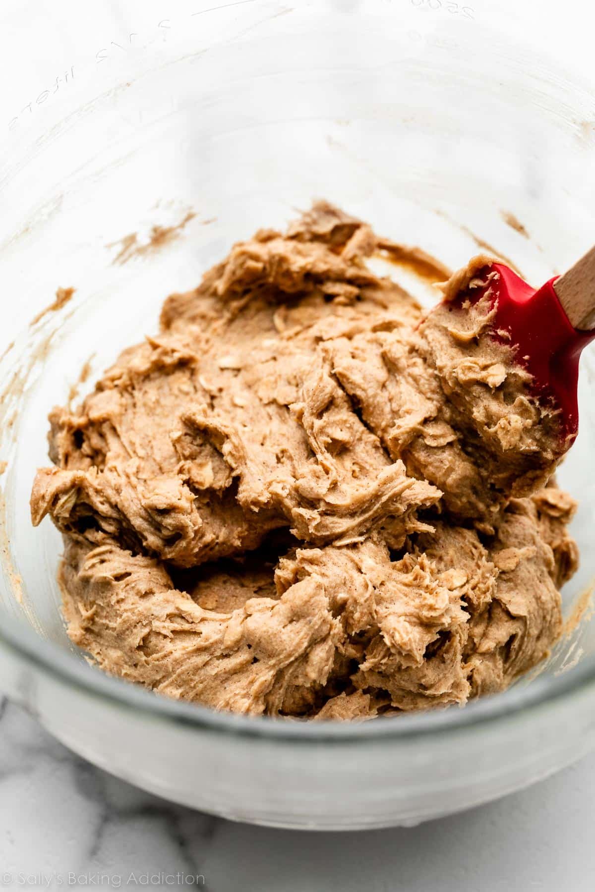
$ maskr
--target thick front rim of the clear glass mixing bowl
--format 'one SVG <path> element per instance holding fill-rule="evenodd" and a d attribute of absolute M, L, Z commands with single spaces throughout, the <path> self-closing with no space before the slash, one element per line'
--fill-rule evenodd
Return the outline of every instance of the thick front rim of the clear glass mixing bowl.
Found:
<path fill-rule="evenodd" d="M 290 721 L 267 715 L 244 715 L 174 700 L 79 662 L 51 641 L 44 640 L 23 622 L 5 616 L 0 627 L 0 647 L 9 658 L 25 662 L 35 671 L 79 693 L 100 698 L 116 707 L 133 709 L 165 723 L 185 725 L 196 731 L 219 731 L 244 738 L 290 740 L 303 743 L 353 743 L 361 740 L 428 739 L 457 731 L 522 718 L 536 710 L 553 710 L 571 695 L 591 693 L 595 687 L 595 654 L 558 676 L 541 676 L 525 686 L 513 686 L 499 694 L 478 698 L 464 707 L 450 706 L 423 713 L 368 722 Z"/>

